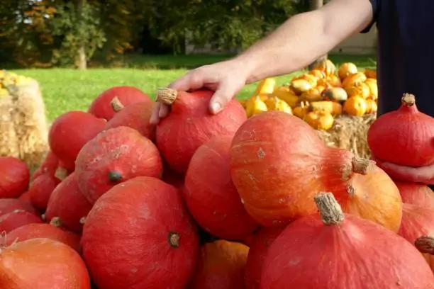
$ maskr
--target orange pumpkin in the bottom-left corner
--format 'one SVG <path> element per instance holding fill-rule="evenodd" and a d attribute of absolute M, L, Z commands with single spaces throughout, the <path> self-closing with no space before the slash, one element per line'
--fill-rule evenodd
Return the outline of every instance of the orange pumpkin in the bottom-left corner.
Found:
<path fill-rule="evenodd" d="M 6 247 L 0 254 L 0 272 L 0 288 L 91 289 L 79 254 L 52 239 L 29 239 Z"/>

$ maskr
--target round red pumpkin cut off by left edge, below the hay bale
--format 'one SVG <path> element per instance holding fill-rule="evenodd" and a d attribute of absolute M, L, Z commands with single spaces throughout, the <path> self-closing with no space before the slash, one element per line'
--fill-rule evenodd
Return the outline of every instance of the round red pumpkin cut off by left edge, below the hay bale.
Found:
<path fill-rule="evenodd" d="M 18 198 L 28 188 L 30 171 L 15 157 L 0 157 L 0 198 Z"/>

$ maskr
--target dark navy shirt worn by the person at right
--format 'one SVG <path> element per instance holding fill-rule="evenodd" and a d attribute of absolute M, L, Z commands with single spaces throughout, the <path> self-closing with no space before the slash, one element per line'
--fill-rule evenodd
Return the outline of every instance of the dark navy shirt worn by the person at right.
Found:
<path fill-rule="evenodd" d="M 379 33 L 379 115 L 399 108 L 402 94 L 411 93 L 419 110 L 434 117 L 434 1 L 371 0 L 371 4 Z"/>

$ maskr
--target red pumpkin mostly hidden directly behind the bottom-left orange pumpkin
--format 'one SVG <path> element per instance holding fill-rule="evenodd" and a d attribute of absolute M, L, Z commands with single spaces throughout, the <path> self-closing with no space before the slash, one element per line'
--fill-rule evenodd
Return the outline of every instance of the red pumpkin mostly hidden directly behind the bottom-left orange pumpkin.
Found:
<path fill-rule="evenodd" d="M 80 236 L 72 232 L 59 229 L 50 224 L 32 223 L 13 229 L 7 235 L 7 246 L 28 239 L 48 238 L 67 244 L 75 251 L 80 251 Z"/>

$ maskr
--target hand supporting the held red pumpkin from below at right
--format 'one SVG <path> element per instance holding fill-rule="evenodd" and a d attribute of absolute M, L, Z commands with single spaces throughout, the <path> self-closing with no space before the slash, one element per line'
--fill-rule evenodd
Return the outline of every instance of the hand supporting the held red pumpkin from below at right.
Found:
<path fill-rule="evenodd" d="M 381 159 L 377 159 L 374 156 L 372 156 L 371 159 L 377 162 L 377 166 L 386 171 L 391 179 L 434 185 L 434 164 L 430 166 L 411 167 L 383 162 Z"/>

